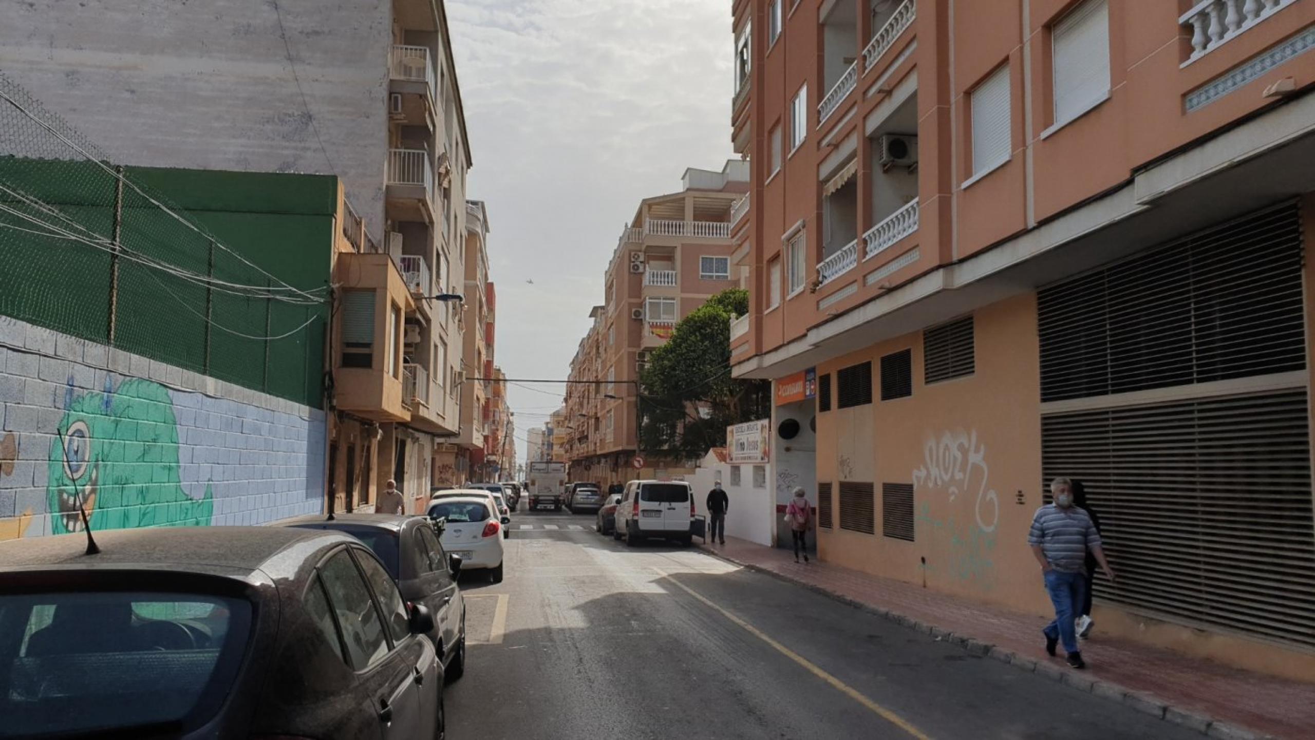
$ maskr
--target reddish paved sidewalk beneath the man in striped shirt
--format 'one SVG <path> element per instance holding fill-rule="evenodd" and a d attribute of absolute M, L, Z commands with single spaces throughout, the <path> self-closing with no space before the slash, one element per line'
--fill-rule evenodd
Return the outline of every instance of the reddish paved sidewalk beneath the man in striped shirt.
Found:
<path fill-rule="evenodd" d="M 818 563 L 794 563 L 788 549 L 729 538 L 704 549 L 906 622 L 965 649 L 1016 664 L 1081 690 L 1105 695 L 1211 737 L 1315 736 L 1315 685 L 1228 668 L 1131 640 L 1091 641 L 1088 670 L 1073 670 L 1041 645 L 1045 619 L 920 589 L 890 578 Z M 1245 729 L 1243 729 L 1245 728 Z"/>

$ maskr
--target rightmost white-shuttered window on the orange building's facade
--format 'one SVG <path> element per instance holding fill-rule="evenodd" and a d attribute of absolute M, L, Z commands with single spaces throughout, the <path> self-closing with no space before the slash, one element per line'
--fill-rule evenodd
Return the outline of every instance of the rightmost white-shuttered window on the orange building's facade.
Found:
<path fill-rule="evenodd" d="M 1110 95 L 1110 9 L 1088 0 L 1051 29 L 1055 125 L 1064 125 Z"/>

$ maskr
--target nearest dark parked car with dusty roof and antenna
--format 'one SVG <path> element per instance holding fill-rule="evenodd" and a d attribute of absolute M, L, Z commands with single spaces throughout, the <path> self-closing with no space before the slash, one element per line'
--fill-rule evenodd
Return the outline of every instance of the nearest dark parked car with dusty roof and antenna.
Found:
<path fill-rule="evenodd" d="M 442 737 L 434 618 L 364 544 L 292 527 L 0 543 L 7 736 Z"/>

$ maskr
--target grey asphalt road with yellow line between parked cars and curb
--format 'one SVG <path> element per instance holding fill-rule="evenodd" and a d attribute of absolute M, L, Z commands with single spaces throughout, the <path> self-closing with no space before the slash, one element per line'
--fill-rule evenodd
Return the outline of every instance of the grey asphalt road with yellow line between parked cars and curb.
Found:
<path fill-rule="evenodd" d="M 454 740 L 1201 737 L 697 548 L 512 520 L 504 582 L 463 584 Z"/>

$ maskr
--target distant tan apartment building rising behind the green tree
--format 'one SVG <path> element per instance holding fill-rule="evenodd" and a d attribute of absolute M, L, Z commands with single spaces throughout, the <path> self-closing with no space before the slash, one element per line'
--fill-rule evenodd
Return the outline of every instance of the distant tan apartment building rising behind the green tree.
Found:
<path fill-rule="evenodd" d="M 647 354 L 709 296 L 740 285 L 732 268 L 731 226 L 748 188 L 747 162 L 719 171 L 685 170 L 681 188 L 643 198 L 622 229 L 604 273 L 602 304 L 571 364 L 564 423 L 572 480 L 604 485 L 635 477 L 685 474 L 682 460 L 639 450 L 639 371 Z"/>

